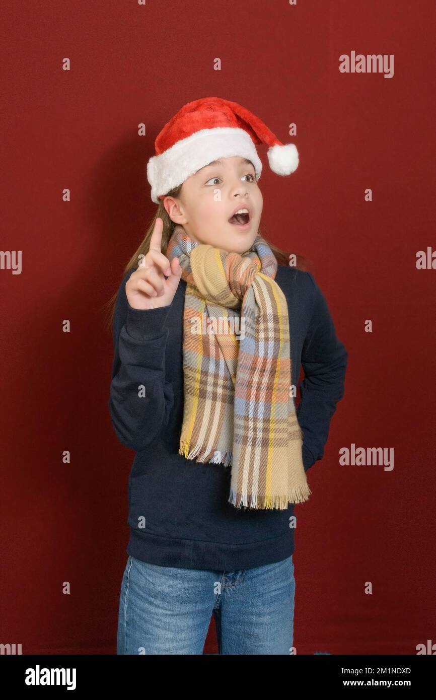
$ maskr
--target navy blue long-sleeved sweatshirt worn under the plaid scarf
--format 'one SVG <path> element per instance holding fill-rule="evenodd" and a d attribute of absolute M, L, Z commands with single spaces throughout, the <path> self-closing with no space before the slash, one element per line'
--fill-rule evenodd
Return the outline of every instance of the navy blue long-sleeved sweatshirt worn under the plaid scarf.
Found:
<path fill-rule="evenodd" d="M 294 504 L 286 510 L 234 507 L 228 503 L 231 467 L 178 454 L 186 282 L 181 279 L 168 306 L 133 309 L 125 293 L 132 272 L 122 280 L 115 305 L 109 399 L 115 434 L 136 451 L 127 554 L 160 566 L 225 571 L 286 559 L 294 552 Z M 344 395 L 348 353 L 314 276 L 279 265 L 275 279 L 288 302 L 294 386 L 300 365 L 304 370 L 297 417 L 307 471 L 323 457 L 330 419 Z"/>

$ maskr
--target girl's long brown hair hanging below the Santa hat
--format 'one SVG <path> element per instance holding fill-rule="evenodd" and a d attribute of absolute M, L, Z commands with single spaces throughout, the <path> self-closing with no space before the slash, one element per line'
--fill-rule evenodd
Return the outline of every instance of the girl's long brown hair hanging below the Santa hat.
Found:
<path fill-rule="evenodd" d="M 183 183 L 178 187 L 174 188 L 174 190 L 168 192 L 167 197 L 179 197 L 182 187 Z M 148 253 L 148 250 L 150 248 L 150 238 L 153 233 L 153 229 L 155 228 L 156 219 L 158 217 L 160 217 L 163 222 L 161 251 L 162 253 L 164 253 L 164 255 L 166 254 L 168 242 L 174 231 L 175 224 L 174 221 L 172 221 L 171 218 L 169 218 L 167 209 L 165 209 L 163 200 L 161 200 L 160 203 L 157 205 L 155 216 L 153 216 L 153 220 L 150 222 L 145 238 L 143 239 L 139 248 L 132 255 L 132 258 L 130 258 L 129 262 L 127 262 L 127 265 L 125 266 L 124 271 L 122 272 L 121 279 L 124 278 L 125 274 L 127 274 L 127 272 L 129 272 L 129 270 L 132 269 L 132 267 L 138 267 L 140 262 L 140 256 L 146 255 L 146 253 Z M 262 235 L 260 229 L 259 234 Z M 275 246 L 271 241 L 266 239 L 265 236 L 264 239 L 271 248 L 272 252 L 274 253 L 277 262 L 279 262 L 281 265 L 289 265 L 290 253 L 288 253 L 287 251 L 283 251 L 282 248 L 278 248 L 277 246 Z M 302 255 L 296 255 L 295 267 L 303 270 L 308 269 L 307 258 L 304 258 L 304 256 Z M 113 314 L 115 311 L 115 302 L 117 300 L 117 296 L 118 289 L 103 306 L 103 309 L 106 309 L 106 327 L 109 330 L 111 329 L 113 323 Z"/>

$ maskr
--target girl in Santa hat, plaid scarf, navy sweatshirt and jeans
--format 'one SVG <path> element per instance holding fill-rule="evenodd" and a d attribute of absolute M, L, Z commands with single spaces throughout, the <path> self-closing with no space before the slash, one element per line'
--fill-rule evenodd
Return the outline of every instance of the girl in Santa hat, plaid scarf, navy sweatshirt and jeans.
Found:
<path fill-rule="evenodd" d="M 190 102 L 148 162 L 159 204 L 113 315 L 109 408 L 136 451 L 118 654 L 291 654 L 294 505 L 347 352 L 314 276 L 260 234 L 262 162 L 297 149 L 235 102 Z M 300 384 L 300 404 L 294 397 Z"/>

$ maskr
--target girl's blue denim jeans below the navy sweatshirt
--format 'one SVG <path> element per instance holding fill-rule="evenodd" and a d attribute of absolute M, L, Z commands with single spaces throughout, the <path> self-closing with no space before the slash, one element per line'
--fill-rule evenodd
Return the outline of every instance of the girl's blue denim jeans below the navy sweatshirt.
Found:
<path fill-rule="evenodd" d="M 292 556 L 227 572 L 156 566 L 129 556 L 117 654 L 202 654 L 211 615 L 219 654 L 290 654 L 294 597 Z"/>

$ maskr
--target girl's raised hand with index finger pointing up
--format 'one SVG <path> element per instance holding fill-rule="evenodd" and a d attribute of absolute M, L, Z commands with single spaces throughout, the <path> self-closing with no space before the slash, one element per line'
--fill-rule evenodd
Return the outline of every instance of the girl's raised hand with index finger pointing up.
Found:
<path fill-rule="evenodd" d="M 178 258 L 171 260 L 170 265 L 168 258 L 161 253 L 163 228 L 164 223 L 158 216 L 150 238 L 150 250 L 126 283 L 127 301 L 133 309 L 157 309 L 169 306 L 174 299 L 182 268 Z"/>

